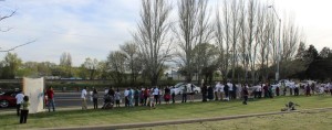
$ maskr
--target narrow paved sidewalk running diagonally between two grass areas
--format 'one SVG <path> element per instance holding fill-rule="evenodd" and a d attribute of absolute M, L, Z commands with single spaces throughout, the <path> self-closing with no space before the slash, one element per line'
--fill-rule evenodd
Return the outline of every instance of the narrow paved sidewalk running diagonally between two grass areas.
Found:
<path fill-rule="evenodd" d="M 153 127 L 153 126 L 166 126 L 166 124 L 180 124 L 180 123 L 194 123 L 203 121 L 218 121 L 218 120 L 230 120 L 257 116 L 269 116 L 269 115 L 283 115 L 303 111 L 326 111 L 332 110 L 330 108 L 314 108 L 314 109 L 302 109 L 295 111 L 274 111 L 274 112 L 261 112 L 261 113 L 250 113 L 250 115 L 237 115 L 237 116 L 225 116 L 225 117 L 214 117 L 214 118 L 196 118 L 196 119 L 183 119 L 183 120 L 166 120 L 166 121 L 155 121 L 155 122 L 141 122 L 141 123 L 120 123 L 120 124 L 104 124 L 104 126 L 82 126 L 82 127 L 65 127 L 65 128 L 48 128 L 43 130 L 110 130 L 110 129 L 131 129 L 131 128 L 142 128 L 142 127 Z"/>

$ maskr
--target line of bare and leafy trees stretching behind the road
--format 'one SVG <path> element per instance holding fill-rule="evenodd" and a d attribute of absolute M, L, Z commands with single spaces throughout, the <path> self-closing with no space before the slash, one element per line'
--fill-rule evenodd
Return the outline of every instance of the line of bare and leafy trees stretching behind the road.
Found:
<path fill-rule="evenodd" d="M 216 7 L 208 0 L 142 0 L 133 40 L 105 61 L 87 57 L 73 67 L 70 53 L 61 55 L 59 65 L 22 63 L 8 53 L 0 64 L 1 78 L 52 75 L 133 85 L 139 78 L 155 86 L 170 64 L 186 82 L 198 74 L 209 84 L 215 72 L 222 80 L 271 80 L 278 64 L 280 78 L 331 78 L 331 50 L 318 53 L 313 45 L 307 47 L 293 15 L 287 13 L 281 21 L 269 7 L 261 0 L 220 0 Z"/>

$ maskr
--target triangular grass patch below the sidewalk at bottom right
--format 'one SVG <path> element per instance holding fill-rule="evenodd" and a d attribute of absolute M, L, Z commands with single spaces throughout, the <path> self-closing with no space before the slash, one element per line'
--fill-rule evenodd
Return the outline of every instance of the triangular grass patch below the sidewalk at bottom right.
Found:
<path fill-rule="evenodd" d="M 332 111 L 307 111 L 132 130 L 330 130 Z"/>

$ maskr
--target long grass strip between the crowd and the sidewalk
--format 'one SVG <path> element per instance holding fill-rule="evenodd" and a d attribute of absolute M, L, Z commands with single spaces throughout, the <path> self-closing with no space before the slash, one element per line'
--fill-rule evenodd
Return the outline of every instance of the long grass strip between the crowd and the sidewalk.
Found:
<path fill-rule="evenodd" d="M 239 100 L 234 100 L 229 102 L 211 101 L 162 105 L 153 110 L 149 110 L 147 107 L 135 107 L 113 110 L 91 109 L 84 111 L 41 112 L 29 115 L 27 124 L 19 124 L 19 118 L 14 115 L 1 115 L 0 129 L 117 124 L 270 112 L 280 111 L 284 107 L 284 104 L 290 100 L 301 105 L 299 109 L 332 107 L 331 96 L 300 96 L 253 100 L 249 101 L 247 106 L 242 105 Z"/>

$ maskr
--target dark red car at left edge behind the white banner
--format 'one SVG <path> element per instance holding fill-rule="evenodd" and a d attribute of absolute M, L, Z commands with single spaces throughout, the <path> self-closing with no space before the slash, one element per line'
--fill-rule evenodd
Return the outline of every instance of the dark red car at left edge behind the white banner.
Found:
<path fill-rule="evenodd" d="M 0 95 L 0 107 L 7 108 L 7 107 L 13 107 L 17 105 L 15 96 L 19 94 L 19 91 L 10 90 L 6 91 Z"/>

